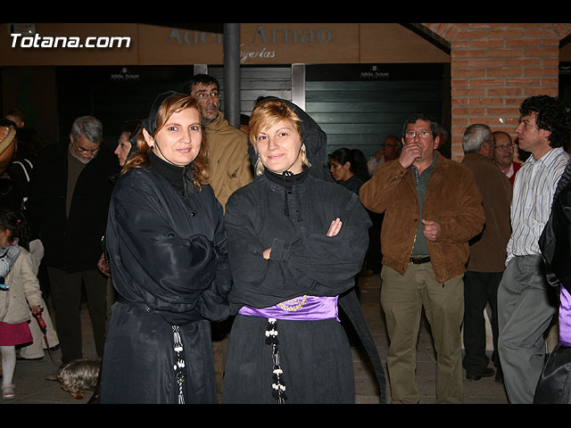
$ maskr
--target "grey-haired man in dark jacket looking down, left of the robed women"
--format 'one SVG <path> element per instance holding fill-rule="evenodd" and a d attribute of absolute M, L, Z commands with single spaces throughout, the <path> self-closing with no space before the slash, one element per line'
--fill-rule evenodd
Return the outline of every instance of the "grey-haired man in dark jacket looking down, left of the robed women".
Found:
<path fill-rule="evenodd" d="M 103 356 L 106 279 L 97 269 L 109 199 L 117 169 L 103 148 L 99 119 L 75 119 L 68 146 L 50 146 L 38 156 L 30 182 L 29 220 L 46 249 L 62 363 L 82 358 L 79 305 L 85 287 L 95 336 Z"/>

